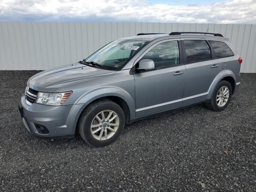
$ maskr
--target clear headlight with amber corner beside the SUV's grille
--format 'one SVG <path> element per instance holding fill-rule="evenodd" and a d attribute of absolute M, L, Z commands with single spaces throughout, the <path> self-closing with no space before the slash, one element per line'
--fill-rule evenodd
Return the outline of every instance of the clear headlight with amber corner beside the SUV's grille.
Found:
<path fill-rule="evenodd" d="M 36 103 L 52 106 L 62 105 L 72 94 L 72 91 L 65 93 L 42 93 L 37 94 Z"/>

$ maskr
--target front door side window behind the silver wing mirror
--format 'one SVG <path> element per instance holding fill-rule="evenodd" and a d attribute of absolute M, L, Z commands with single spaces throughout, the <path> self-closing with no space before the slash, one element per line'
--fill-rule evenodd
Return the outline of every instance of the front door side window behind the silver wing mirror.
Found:
<path fill-rule="evenodd" d="M 156 69 L 168 68 L 180 64 L 178 41 L 168 41 L 154 46 L 142 59 L 151 59 Z"/>

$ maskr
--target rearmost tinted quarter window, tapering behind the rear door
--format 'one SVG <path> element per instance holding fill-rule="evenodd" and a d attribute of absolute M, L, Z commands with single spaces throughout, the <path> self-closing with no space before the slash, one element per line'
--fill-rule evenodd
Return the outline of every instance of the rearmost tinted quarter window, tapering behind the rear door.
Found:
<path fill-rule="evenodd" d="M 226 43 L 220 41 L 209 41 L 217 58 L 233 56 L 234 53 Z"/>

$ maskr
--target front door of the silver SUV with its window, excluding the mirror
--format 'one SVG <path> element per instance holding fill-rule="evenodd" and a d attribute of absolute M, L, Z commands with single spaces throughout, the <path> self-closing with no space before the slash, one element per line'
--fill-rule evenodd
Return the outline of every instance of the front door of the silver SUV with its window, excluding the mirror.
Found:
<path fill-rule="evenodd" d="M 153 60 L 155 70 L 134 74 L 136 117 L 182 106 L 186 68 L 180 40 L 157 42 L 138 59 Z"/>

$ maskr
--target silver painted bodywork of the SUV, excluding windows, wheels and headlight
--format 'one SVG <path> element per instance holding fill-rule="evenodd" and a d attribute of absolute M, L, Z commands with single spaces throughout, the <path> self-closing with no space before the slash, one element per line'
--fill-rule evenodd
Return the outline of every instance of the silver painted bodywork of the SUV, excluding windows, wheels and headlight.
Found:
<path fill-rule="evenodd" d="M 40 92 L 73 93 L 62 106 L 45 106 L 33 103 L 28 106 L 24 95 L 21 103 L 24 119 L 30 132 L 37 136 L 72 136 L 81 112 L 92 101 L 105 96 L 122 98 L 130 111 L 130 122 L 136 118 L 179 108 L 210 99 L 213 90 L 226 76 L 234 78 L 236 90 L 240 86 L 238 54 L 226 38 L 182 35 L 146 35 L 129 39 L 151 40 L 120 71 L 103 70 L 73 63 L 40 72 L 31 77 L 27 85 Z M 123 39 L 128 39 L 123 38 Z M 181 39 L 220 40 L 230 46 L 234 56 L 204 62 L 175 66 L 161 70 L 130 74 L 131 68 L 156 44 Z M 218 64 L 216 68 L 212 65 Z M 174 76 L 176 71 L 184 74 Z M 49 134 L 39 134 L 34 123 L 48 128 Z"/>

